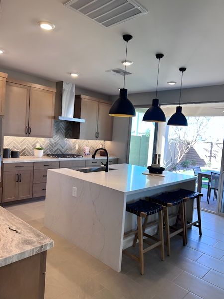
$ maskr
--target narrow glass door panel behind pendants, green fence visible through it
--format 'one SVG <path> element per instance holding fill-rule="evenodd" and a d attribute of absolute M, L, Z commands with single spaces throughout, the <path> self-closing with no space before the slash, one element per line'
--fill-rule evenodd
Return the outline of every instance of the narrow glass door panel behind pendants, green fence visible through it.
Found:
<path fill-rule="evenodd" d="M 143 122 L 148 108 L 136 108 L 132 118 L 129 164 L 147 167 L 152 163 L 155 123 Z"/>

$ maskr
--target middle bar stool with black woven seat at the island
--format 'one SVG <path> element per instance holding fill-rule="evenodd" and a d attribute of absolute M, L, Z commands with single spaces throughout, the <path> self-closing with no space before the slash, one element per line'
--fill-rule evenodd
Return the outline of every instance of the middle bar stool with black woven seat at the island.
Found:
<path fill-rule="evenodd" d="M 163 206 L 164 211 L 164 222 L 165 222 L 165 232 L 166 232 L 166 242 L 167 245 L 167 255 L 170 256 L 170 239 L 180 233 L 183 237 L 183 245 L 186 245 L 186 224 L 185 224 L 185 211 L 184 211 L 184 201 L 175 192 L 161 193 L 157 196 L 146 197 L 150 202 L 155 202 Z M 180 215 L 181 215 L 181 228 L 175 226 L 170 226 L 169 224 L 169 208 L 179 205 Z M 179 217 L 178 217 L 179 220 Z M 176 223 L 177 224 L 177 223 Z M 174 230 L 172 233 L 170 229 Z"/>

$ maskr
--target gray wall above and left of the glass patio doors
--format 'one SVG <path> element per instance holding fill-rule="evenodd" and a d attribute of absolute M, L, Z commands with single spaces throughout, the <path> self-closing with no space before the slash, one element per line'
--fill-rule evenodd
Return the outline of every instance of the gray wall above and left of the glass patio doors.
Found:
<path fill-rule="evenodd" d="M 158 98 L 160 104 L 176 104 L 179 101 L 179 89 L 159 91 Z M 113 102 L 118 98 L 110 96 Z M 155 92 L 128 94 L 128 99 L 135 106 L 150 106 Z M 181 103 L 203 103 L 203 102 L 224 102 L 224 85 L 214 85 L 206 87 L 185 88 L 182 90 Z M 122 120 L 120 120 L 122 119 Z M 114 117 L 113 120 L 113 143 L 106 143 L 110 153 L 116 153 L 122 163 L 128 162 L 128 139 L 129 118 Z M 114 146 L 116 145 L 116 147 Z"/>

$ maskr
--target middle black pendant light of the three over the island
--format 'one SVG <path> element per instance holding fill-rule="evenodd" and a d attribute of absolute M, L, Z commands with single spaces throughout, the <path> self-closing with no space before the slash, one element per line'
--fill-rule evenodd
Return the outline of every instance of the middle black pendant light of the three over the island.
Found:
<path fill-rule="evenodd" d="M 162 109 L 159 107 L 159 99 L 157 99 L 158 92 L 158 81 L 159 81 L 159 63 L 160 59 L 163 58 L 163 54 L 156 54 L 158 62 L 158 74 L 157 74 L 157 85 L 156 85 L 156 98 L 152 100 L 152 106 L 145 112 L 143 121 L 161 123 L 166 121 L 166 117 Z"/>

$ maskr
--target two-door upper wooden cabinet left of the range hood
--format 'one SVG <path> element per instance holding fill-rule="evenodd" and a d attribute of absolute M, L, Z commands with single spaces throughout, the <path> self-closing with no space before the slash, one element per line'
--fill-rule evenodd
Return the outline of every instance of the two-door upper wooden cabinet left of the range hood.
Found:
<path fill-rule="evenodd" d="M 6 82 L 6 136 L 52 137 L 55 89 L 8 79 Z"/>

